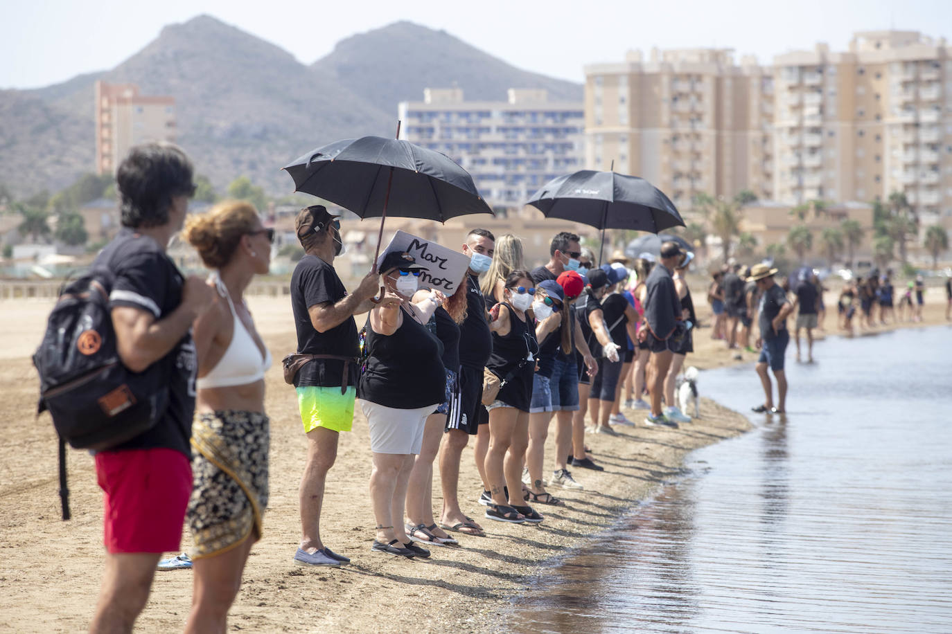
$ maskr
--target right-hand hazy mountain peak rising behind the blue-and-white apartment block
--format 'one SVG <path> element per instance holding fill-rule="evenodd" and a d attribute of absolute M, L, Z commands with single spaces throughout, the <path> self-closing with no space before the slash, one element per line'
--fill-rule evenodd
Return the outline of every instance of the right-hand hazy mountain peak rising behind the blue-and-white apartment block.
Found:
<path fill-rule="evenodd" d="M 421 101 L 423 89 L 459 86 L 466 100 L 503 101 L 507 88 L 546 88 L 549 99 L 577 101 L 581 84 L 510 66 L 445 30 L 411 22 L 341 40 L 311 68 L 396 117 L 397 104 Z"/>

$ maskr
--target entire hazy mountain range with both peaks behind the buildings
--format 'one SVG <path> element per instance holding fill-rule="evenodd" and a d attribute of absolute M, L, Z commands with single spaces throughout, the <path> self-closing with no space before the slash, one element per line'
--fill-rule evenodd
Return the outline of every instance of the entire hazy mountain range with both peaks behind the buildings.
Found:
<path fill-rule="evenodd" d="M 340 138 L 393 134 L 397 103 L 421 99 L 426 86 L 455 82 L 467 99 L 505 99 L 513 86 L 582 98 L 582 86 L 511 67 L 408 22 L 347 38 L 308 67 L 202 15 L 162 29 L 110 70 L 0 90 L 0 182 L 14 194 L 57 191 L 92 170 L 97 79 L 174 97 L 177 143 L 219 191 L 244 174 L 276 195 L 293 189 L 282 165 Z"/>

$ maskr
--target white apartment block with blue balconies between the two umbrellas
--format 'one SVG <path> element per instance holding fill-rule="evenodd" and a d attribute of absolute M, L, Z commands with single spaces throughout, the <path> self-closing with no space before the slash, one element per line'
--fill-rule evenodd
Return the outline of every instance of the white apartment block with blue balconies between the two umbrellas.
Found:
<path fill-rule="evenodd" d="M 462 88 L 426 88 L 398 106 L 400 138 L 460 163 L 493 209 L 519 208 L 547 181 L 583 168 L 580 103 L 509 88 L 500 102 L 466 102 Z"/>

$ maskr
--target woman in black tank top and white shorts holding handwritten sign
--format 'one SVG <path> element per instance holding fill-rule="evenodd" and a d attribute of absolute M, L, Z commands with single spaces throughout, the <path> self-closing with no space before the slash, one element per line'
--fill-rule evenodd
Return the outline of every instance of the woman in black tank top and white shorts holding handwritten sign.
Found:
<path fill-rule="evenodd" d="M 422 268 L 407 252 L 391 251 L 381 261 L 385 295 L 367 317 L 367 362 L 358 387 L 373 455 L 370 500 L 377 527 L 370 550 L 404 557 L 430 554 L 407 535 L 404 507 L 426 416 L 446 400 L 443 346 L 426 329 L 446 298 L 431 291 L 411 303 Z"/>

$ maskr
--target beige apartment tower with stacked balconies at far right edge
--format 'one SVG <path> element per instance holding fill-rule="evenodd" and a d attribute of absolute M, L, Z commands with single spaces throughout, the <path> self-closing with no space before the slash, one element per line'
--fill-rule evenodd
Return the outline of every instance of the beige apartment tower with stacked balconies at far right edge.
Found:
<path fill-rule="evenodd" d="M 917 31 L 863 31 L 774 58 L 778 201 L 904 192 L 922 226 L 952 214 L 952 47 Z M 942 213 L 945 210 L 946 214 Z"/>

